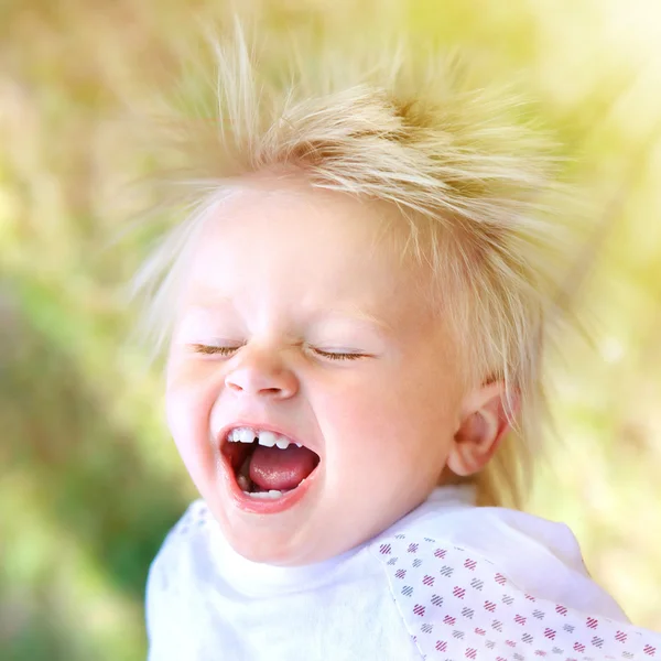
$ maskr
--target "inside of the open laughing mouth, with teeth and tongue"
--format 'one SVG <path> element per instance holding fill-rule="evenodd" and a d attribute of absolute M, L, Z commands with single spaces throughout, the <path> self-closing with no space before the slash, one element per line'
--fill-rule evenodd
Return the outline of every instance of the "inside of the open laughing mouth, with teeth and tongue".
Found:
<path fill-rule="evenodd" d="M 319 463 L 319 456 L 301 443 L 246 426 L 228 432 L 223 454 L 239 489 L 256 499 L 277 499 L 293 491 Z"/>

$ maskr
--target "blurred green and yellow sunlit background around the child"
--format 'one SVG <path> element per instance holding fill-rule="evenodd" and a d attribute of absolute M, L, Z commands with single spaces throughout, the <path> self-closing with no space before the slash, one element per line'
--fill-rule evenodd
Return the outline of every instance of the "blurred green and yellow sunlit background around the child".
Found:
<path fill-rule="evenodd" d="M 174 85 L 221 0 L 0 0 L 0 658 L 129 661 L 143 586 L 194 497 L 159 370 L 127 340 L 145 237 L 110 239 L 161 166 L 132 120 Z M 523 80 L 603 220 L 579 299 L 593 343 L 555 359 L 559 438 L 529 509 L 661 630 L 661 3 L 245 1 L 282 31 L 393 26 Z M 198 76 L 189 71 L 192 77 Z M 208 77 L 208 72 L 206 74 Z"/>

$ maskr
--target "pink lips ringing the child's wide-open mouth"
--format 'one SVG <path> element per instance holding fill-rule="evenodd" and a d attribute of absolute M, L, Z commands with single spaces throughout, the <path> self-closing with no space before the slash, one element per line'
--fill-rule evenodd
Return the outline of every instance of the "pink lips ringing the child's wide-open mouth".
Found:
<path fill-rule="evenodd" d="M 218 447 L 220 449 L 220 465 L 223 466 L 223 478 L 224 478 L 224 481 L 229 491 L 229 497 L 230 497 L 231 501 L 234 502 L 235 507 L 237 507 L 237 509 L 239 509 L 241 511 L 253 513 L 253 514 L 277 514 L 277 513 L 284 512 L 284 511 L 293 508 L 296 503 L 299 503 L 305 497 L 305 495 L 310 491 L 310 489 L 312 487 L 314 487 L 314 485 L 316 484 L 318 475 L 319 475 L 318 468 L 322 463 L 321 457 L 319 457 L 319 463 L 316 465 L 314 470 L 297 487 L 295 487 L 294 489 L 291 489 L 290 491 L 288 491 L 286 494 L 281 496 L 280 498 L 274 498 L 274 499 L 251 498 L 250 496 L 247 496 L 246 494 L 243 494 L 242 489 L 237 484 L 234 468 L 232 468 L 230 462 L 228 460 L 228 457 L 223 452 L 223 447 L 227 443 L 228 433 L 236 427 L 251 427 L 251 429 L 269 431 L 269 432 L 273 432 L 274 434 L 280 434 L 282 436 L 286 436 L 290 440 L 290 442 L 300 443 L 300 441 L 297 441 L 294 436 L 292 436 L 291 434 L 283 431 L 281 427 L 277 427 L 271 424 L 241 421 L 241 422 L 232 422 L 231 424 L 225 426 L 218 435 L 218 437 L 219 437 Z M 318 453 L 314 448 L 310 447 L 308 445 L 305 445 L 304 443 L 302 445 L 304 445 L 308 449 L 312 449 L 318 456 Z"/>

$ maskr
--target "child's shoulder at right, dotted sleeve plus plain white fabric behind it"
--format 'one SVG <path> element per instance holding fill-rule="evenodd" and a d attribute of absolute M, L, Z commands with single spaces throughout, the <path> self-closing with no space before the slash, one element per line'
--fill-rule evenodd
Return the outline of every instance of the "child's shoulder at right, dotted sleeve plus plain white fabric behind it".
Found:
<path fill-rule="evenodd" d="M 544 534 L 553 543 L 546 548 L 545 538 L 531 535 L 541 521 L 528 521 L 525 514 L 509 521 L 509 513 L 494 519 L 498 513 L 463 508 L 443 516 L 444 521 L 418 517 L 371 544 L 423 658 L 661 659 L 661 637 L 627 624 L 596 585 L 587 604 L 585 597 L 573 603 L 573 593 L 566 593 L 568 600 L 554 597 L 549 587 L 554 578 L 571 583 L 573 576 L 578 590 L 592 583 L 578 571 L 579 554 L 570 553 L 564 564 L 575 544 L 566 528 L 549 523 Z M 510 543 L 510 534 L 517 543 Z M 554 548 L 557 540 L 560 549 Z M 507 546 L 505 554 L 491 553 L 496 542 Z M 534 562 L 525 557 L 530 554 Z M 534 589 L 535 582 L 541 589 Z"/>

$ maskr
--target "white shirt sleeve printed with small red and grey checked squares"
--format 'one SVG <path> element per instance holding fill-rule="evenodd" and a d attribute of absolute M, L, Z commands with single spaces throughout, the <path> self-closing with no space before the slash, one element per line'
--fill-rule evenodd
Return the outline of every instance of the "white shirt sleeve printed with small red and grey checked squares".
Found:
<path fill-rule="evenodd" d="M 530 594 L 473 550 L 408 533 L 373 552 L 423 659 L 661 659 L 661 635 Z"/>

